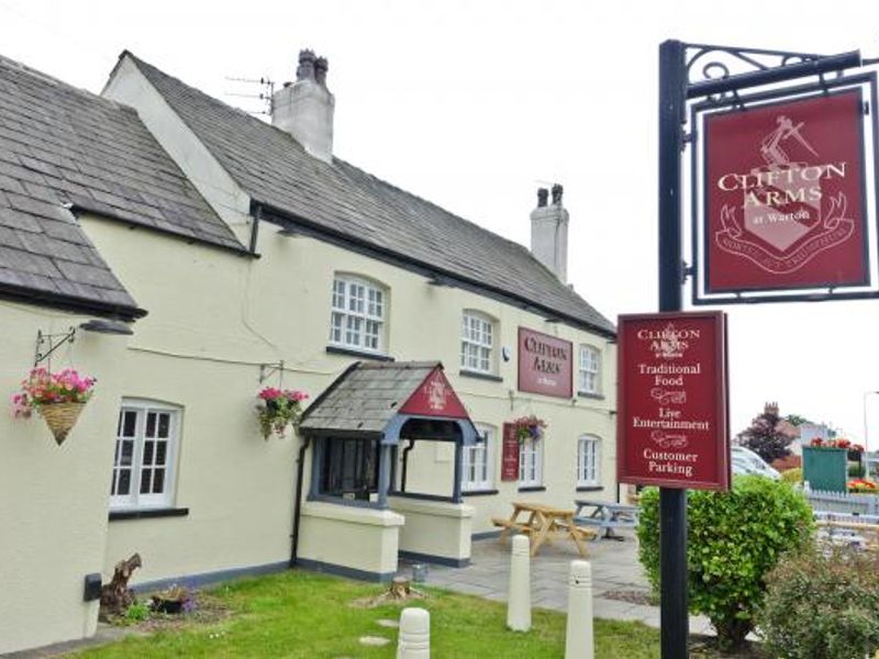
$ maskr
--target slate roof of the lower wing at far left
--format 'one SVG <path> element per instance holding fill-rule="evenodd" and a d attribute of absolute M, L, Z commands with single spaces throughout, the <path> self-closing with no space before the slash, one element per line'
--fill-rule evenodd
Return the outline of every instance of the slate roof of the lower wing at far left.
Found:
<path fill-rule="evenodd" d="M 78 209 L 243 250 L 134 110 L 0 57 L 0 294 L 143 315 Z"/>

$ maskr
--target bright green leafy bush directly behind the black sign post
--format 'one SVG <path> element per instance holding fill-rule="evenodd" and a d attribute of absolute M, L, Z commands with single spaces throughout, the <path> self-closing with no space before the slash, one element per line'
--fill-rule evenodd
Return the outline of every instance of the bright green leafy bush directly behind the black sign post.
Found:
<path fill-rule="evenodd" d="M 721 649 L 742 646 L 763 603 L 765 577 L 785 551 L 808 544 L 812 510 L 788 483 L 734 479 L 730 492 L 688 494 L 688 588 L 691 613 L 711 619 Z M 659 492 L 642 493 L 638 552 L 659 592 Z"/>

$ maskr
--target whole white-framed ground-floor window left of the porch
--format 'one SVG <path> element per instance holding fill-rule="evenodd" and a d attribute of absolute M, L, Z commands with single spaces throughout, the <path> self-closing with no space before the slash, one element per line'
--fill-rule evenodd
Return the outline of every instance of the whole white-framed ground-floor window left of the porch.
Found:
<path fill-rule="evenodd" d="M 180 409 L 125 399 L 119 411 L 110 507 L 174 504 Z"/>

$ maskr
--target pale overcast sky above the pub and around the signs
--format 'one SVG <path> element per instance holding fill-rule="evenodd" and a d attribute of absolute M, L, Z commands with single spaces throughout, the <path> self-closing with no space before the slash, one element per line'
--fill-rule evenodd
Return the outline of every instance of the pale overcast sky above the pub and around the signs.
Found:
<path fill-rule="evenodd" d="M 330 60 L 335 154 L 527 245 L 560 182 L 569 279 L 607 316 L 657 308 L 657 47 L 879 56 L 875 2 L 0 0 L 0 54 L 99 92 L 127 48 L 231 104 L 227 77 Z M 778 401 L 879 447 L 879 302 L 727 308 L 732 431 Z"/>

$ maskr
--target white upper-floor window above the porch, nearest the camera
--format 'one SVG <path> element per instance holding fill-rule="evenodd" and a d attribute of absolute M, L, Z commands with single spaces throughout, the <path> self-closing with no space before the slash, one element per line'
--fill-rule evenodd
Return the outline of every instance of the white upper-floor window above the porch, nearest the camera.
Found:
<path fill-rule="evenodd" d="M 336 275 L 333 279 L 330 343 L 370 353 L 383 351 L 386 309 L 387 294 L 379 284 Z"/>

